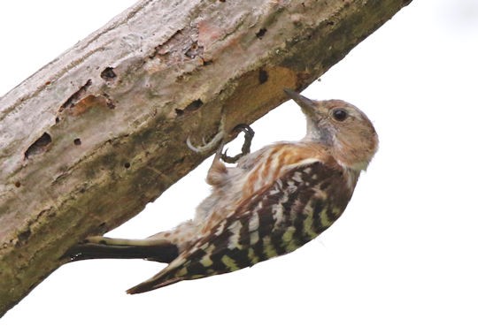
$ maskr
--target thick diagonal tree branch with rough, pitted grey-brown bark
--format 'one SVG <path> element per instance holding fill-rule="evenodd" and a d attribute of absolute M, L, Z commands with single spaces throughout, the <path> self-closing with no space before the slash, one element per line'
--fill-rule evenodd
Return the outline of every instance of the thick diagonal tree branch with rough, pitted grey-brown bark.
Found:
<path fill-rule="evenodd" d="M 0 315 L 409 2 L 143 0 L 4 95 Z"/>

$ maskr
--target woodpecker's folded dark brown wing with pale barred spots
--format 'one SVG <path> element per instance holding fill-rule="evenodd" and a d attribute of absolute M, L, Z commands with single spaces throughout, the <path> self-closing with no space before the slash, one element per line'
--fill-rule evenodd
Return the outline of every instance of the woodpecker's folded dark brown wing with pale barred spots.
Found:
<path fill-rule="evenodd" d="M 350 201 L 353 187 L 344 172 L 320 162 L 295 167 L 243 201 L 156 276 L 127 292 L 242 269 L 301 247 L 326 230 Z"/>

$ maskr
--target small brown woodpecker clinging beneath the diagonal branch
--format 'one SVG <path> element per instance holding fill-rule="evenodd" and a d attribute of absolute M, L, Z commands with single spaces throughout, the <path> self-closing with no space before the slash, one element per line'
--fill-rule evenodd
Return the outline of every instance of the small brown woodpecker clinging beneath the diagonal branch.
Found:
<path fill-rule="evenodd" d="M 348 102 L 314 101 L 284 91 L 305 114 L 304 139 L 250 153 L 253 133 L 243 127 L 249 140 L 243 154 L 233 159 L 235 166 L 227 166 L 221 160 L 231 159 L 220 144 L 206 178 L 212 192 L 193 219 L 147 239 L 91 237 L 73 247 L 72 260 L 144 258 L 168 263 L 127 290 L 139 293 L 251 267 L 290 253 L 324 232 L 351 200 L 360 172 L 378 148 L 378 136 L 366 115 Z"/>

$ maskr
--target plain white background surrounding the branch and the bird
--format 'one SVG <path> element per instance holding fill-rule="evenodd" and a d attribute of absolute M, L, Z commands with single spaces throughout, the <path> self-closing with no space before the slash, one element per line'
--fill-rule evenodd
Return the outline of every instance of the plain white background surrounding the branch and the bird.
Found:
<path fill-rule="evenodd" d="M 0 95 L 133 3 L 0 3 Z M 477 333 L 477 62 L 477 0 L 413 1 L 304 92 L 356 104 L 381 140 L 320 238 L 252 269 L 135 296 L 124 290 L 161 265 L 68 264 L 0 332 Z M 252 126 L 254 149 L 305 131 L 292 102 Z M 210 163 L 110 235 L 143 238 L 192 216 Z"/>

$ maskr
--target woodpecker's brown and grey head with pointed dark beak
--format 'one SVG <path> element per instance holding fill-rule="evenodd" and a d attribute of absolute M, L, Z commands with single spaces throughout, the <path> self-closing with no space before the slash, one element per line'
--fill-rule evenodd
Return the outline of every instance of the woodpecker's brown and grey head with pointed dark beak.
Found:
<path fill-rule="evenodd" d="M 362 111 L 342 100 L 314 101 L 284 89 L 305 113 L 305 140 L 328 147 L 335 160 L 353 170 L 365 170 L 378 148 L 374 125 Z"/>

